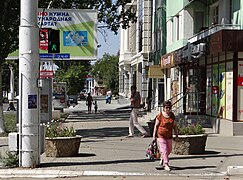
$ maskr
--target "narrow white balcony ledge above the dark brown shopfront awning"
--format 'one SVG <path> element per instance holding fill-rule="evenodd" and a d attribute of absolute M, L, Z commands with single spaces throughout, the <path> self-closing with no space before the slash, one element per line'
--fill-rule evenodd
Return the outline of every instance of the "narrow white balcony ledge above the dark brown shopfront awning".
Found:
<path fill-rule="evenodd" d="M 193 44 L 197 41 L 200 41 L 220 30 L 224 30 L 224 29 L 230 29 L 230 30 L 239 30 L 240 29 L 240 25 L 233 25 L 233 24 L 217 24 L 214 25 L 212 27 L 209 27 L 197 34 L 195 34 L 194 36 L 192 36 L 191 38 L 188 39 L 188 42 L 190 44 Z"/>

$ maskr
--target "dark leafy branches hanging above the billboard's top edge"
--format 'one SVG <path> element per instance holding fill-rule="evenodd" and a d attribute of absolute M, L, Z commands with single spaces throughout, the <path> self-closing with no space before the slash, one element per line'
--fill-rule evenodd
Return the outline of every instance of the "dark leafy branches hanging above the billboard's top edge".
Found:
<path fill-rule="evenodd" d="M 47 8 L 50 0 L 39 1 L 39 7 Z M 118 33 L 119 27 L 128 28 L 129 23 L 137 21 L 136 11 L 130 8 L 125 8 L 128 0 L 65 0 L 53 1 L 52 8 L 62 9 L 95 9 L 98 11 L 98 22 L 105 27 Z"/>

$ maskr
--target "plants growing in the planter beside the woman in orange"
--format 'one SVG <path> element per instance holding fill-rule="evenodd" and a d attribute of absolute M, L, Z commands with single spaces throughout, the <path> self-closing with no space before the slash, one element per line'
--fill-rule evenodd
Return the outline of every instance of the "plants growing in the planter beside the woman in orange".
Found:
<path fill-rule="evenodd" d="M 185 119 L 180 119 L 178 124 L 178 134 L 179 135 L 197 135 L 204 134 L 205 130 L 202 125 L 197 124 L 188 124 Z"/>

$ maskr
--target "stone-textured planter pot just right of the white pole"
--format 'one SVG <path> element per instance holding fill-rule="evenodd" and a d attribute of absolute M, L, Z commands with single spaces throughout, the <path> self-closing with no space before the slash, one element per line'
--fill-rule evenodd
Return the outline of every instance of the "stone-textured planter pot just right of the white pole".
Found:
<path fill-rule="evenodd" d="M 47 157 L 73 157 L 78 155 L 81 136 L 45 138 Z"/>

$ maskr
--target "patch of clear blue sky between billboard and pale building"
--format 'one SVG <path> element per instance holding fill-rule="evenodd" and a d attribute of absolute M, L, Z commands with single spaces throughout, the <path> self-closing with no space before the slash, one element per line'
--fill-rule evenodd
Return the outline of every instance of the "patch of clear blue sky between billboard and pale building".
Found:
<path fill-rule="evenodd" d="M 98 31 L 98 44 L 101 46 L 98 48 L 98 58 L 102 58 L 105 53 L 109 53 L 110 55 L 116 55 L 120 49 L 120 33 L 114 35 L 114 32 L 110 30 L 106 30 L 107 37 L 106 41 L 102 34 Z"/>

